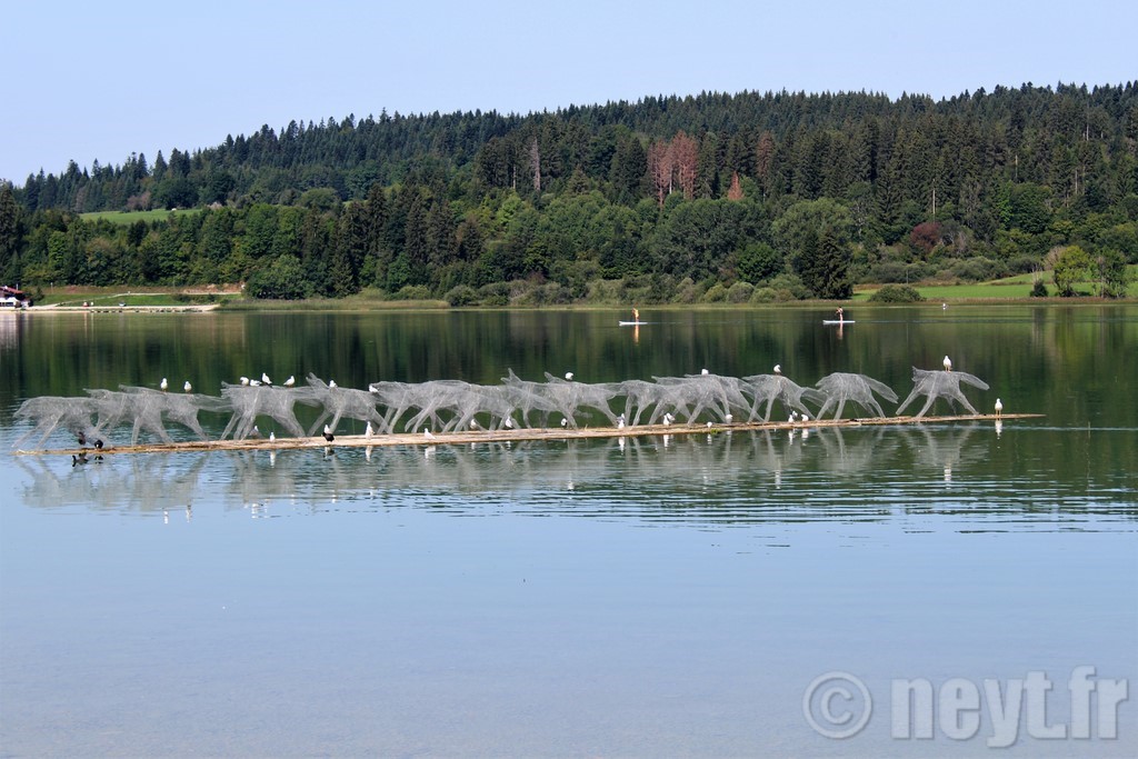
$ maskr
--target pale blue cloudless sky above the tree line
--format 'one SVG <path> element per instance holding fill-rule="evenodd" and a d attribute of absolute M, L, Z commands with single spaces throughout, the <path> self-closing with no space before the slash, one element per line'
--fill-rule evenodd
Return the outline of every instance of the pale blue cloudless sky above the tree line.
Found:
<path fill-rule="evenodd" d="M 262 124 L 701 91 L 1138 80 L 1138 3 L 1083 0 L 14 0 L 0 179 L 195 150 Z"/>

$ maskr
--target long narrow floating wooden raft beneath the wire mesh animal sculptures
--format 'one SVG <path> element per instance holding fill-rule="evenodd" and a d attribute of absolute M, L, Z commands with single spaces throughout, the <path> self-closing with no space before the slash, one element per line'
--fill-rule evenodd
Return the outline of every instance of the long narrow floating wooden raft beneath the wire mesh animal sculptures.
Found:
<path fill-rule="evenodd" d="M 809 430 L 828 427 L 892 427 L 898 424 L 940 424 L 945 422 L 1004 421 L 1007 419 L 1039 419 L 1044 414 L 975 414 L 962 416 L 873 416 L 867 419 L 811 419 L 798 422 L 732 422 L 707 424 L 641 424 L 637 427 L 587 427 L 582 429 L 521 428 L 501 430 L 463 430 L 437 432 L 431 438 L 422 432 L 393 435 L 337 435 L 331 443 L 323 437 L 249 438 L 246 440 L 191 440 L 188 443 L 154 443 L 96 448 L 56 448 L 16 451 L 17 455 L 112 455 L 122 453 L 179 453 L 189 451 L 290 451 L 294 448 L 362 448 L 394 445 L 467 445 L 470 443 L 520 443 L 526 440 L 582 440 L 592 438 L 644 437 L 661 435 L 698 435 L 752 430 Z"/>

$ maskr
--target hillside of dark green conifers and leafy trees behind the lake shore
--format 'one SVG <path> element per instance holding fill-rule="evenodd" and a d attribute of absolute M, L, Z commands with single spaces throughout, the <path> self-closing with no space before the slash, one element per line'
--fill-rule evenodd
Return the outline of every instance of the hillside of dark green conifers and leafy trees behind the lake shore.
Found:
<path fill-rule="evenodd" d="M 156 208 L 200 212 L 82 215 Z M 1138 82 L 348 116 L 0 189 L 0 280 L 25 288 L 744 302 L 1058 265 L 1118 295 L 1127 262 Z"/>

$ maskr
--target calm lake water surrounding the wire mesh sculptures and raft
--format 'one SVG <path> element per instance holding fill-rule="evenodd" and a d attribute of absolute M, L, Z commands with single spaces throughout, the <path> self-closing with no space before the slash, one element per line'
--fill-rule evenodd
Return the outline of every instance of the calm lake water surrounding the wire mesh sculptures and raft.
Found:
<path fill-rule="evenodd" d="M 1012 727 L 1014 756 L 1138 754 L 1138 307 L 827 315 L 0 315 L 0 756 L 973 756 Z M 904 398 L 946 354 L 991 386 L 965 388 L 981 411 L 1045 416 L 11 454 L 25 398 L 162 377 L 217 394 L 263 371 L 364 388 L 778 363 Z M 803 708 L 832 673 L 857 683 Z"/>

